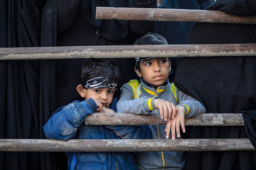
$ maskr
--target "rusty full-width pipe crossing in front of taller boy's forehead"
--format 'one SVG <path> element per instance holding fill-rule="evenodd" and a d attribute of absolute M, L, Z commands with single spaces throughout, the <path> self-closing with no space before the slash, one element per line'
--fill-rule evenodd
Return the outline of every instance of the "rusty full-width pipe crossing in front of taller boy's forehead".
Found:
<path fill-rule="evenodd" d="M 0 48 L 0 60 L 134 57 L 256 56 L 256 43 L 205 45 L 105 45 Z"/>

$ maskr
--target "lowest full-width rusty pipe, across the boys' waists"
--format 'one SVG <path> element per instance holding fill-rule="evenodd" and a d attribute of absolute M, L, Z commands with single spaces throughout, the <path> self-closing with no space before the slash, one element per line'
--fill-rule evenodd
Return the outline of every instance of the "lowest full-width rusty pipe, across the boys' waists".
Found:
<path fill-rule="evenodd" d="M 255 151 L 249 139 L 31 140 L 0 139 L 0 152 Z"/>

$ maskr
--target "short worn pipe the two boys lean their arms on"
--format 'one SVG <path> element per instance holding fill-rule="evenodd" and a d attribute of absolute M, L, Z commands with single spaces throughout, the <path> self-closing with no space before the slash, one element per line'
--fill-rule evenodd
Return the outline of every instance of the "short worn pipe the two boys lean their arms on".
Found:
<path fill-rule="evenodd" d="M 85 125 L 166 125 L 160 115 L 131 113 L 93 113 L 85 118 Z M 240 113 L 205 113 L 185 119 L 185 125 L 193 126 L 243 126 Z"/>

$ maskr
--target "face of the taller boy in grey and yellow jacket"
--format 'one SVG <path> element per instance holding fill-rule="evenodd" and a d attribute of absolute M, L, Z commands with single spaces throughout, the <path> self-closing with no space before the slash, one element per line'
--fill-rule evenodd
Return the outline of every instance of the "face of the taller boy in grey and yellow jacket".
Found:
<path fill-rule="evenodd" d="M 149 84 L 161 86 L 168 79 L 171 71 L 171 62 L 167 58 L 150 58 L 140 62 L 140 69 L 135 69 L 139 77 L 142 77 Z"/>

